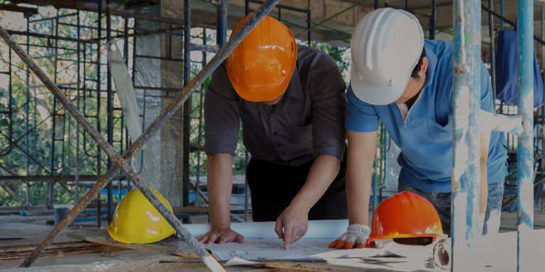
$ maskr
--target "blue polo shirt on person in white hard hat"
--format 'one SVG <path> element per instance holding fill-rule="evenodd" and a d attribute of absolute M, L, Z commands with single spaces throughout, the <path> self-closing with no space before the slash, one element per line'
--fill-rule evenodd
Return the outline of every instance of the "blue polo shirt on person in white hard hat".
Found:
<path fill-rule="evenodd" d="M 452 176 L 452 43 L 425 40 L 428 69 L 420 98 L 414 103 L 403 124 L 395 103 L 375 106 L 361 101 L 348 87 L 346 104 L 347 130 L 373 132 L 382 120 L 392 140 L 402 152 L 400 181 L 423 191 L 451 192 Z M 492 86 L 485 65 L 480 69 L 480 108 L 495 113 Z M 350 144 L 350 143 L 348 143 Z M 507 176 L 505 136 L 491 132 L 488 149 L 488 183 Z"/>

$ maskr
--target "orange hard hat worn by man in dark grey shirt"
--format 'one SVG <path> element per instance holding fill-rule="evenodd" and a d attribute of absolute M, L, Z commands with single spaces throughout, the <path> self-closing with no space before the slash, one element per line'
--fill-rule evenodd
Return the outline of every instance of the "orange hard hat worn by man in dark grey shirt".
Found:
<path fill-rule="evenodd" d="M 253 13 L 238 22 L 233 33 Z M 265 16 L 229 57 L 226 68 L 236 93 L 246 101 L 268 101 L 280 96 L 297 61 L 297 45 L 292 31 L 283 23 Z"/>

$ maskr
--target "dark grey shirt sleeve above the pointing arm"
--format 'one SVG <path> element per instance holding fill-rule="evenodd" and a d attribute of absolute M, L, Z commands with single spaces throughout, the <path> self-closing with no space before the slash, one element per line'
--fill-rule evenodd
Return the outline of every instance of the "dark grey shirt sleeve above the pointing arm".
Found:
<path fill-rule="evenodd" d="M 346 133 L 343 128 L 346 95 L 341 72 L 324 53 L 309 67 L 309 94 L 312 98 L 312 139 L 314 156 L 326 154 L 343 158 Z"/>

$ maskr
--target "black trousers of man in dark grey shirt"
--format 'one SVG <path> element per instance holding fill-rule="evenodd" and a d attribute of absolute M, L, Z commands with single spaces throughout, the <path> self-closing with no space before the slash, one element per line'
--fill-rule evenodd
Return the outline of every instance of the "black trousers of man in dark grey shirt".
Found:
<path fill-rule="evenodd" d="M 301 166 L 275 164 L 252 158 L 246 169 L 254 222 L 276 221 L 307 181 L 314 160 Z M 309 220 L 346 219 L 346 158 L 324 196 L 309 212 Z"/>

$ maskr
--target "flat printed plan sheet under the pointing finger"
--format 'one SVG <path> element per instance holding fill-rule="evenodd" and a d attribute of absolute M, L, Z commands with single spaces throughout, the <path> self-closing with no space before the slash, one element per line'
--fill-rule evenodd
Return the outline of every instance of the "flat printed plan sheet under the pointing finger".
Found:
<path fill-rule="evenodd" d="M 204 244 L 204 247 L 221 261 L 235 257 L 251 261 L 277 259 L 313 259 L 312 255 L 333 251 L 327 247 L 331 239 L 300 239 L 290 244 L 290 249 L 284 249 L 281 239 L 245 239 L 244 244 Z"/>

